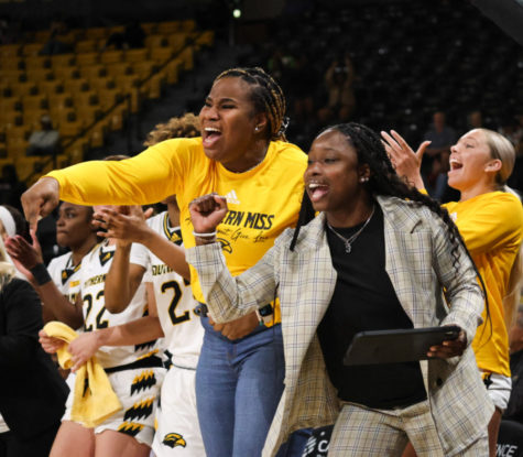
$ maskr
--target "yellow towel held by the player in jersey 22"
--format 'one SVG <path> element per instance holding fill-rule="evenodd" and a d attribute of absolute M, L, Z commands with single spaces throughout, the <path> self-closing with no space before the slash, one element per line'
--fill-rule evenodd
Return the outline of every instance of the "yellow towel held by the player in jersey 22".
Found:
<path fill-rule="evenodd" d="M 54 338 L 66 342 L 78 337 L 69 326 L 59 322 L 50 322 L 44 326 L 44 331 Z M 57 351 L 58 363 L 64 369 L 73 367 L 68 345 Z M 79 422 L 91 428 L 101 424 L 107 417 L 120 411 L 122 405 L 96 357 L 91 357 L 76 372 L 75 391 L 70 420 Z"/>

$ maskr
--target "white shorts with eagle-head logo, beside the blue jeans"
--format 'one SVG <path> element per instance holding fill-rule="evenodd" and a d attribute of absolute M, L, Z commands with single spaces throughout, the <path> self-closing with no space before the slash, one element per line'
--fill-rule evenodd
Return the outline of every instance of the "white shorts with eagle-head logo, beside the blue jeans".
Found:
<path fill-rule="evenodd" d="M 153 450 L 157 457 L 205 457 L 196 412 L 196 370 L 172 366 L 156 410 Z"/>

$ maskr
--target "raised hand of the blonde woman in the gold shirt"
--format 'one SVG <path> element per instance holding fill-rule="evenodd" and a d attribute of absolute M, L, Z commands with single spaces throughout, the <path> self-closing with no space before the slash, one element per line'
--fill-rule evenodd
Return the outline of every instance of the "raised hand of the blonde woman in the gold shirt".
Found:
<path fill-rule="evenodd" d="M 417 189 L 424 188 L 425 185 L 423 184 L 420 170 L 422 167 L 423 154 L 431 144 L 431 141 L 424 141 L 420 144 L 417 151 L 414 152 L 403 137 L 394 130 L 391 130 L 391 134 L 381 132 L 381 137 L 397 175 L 405 177 Z"/>

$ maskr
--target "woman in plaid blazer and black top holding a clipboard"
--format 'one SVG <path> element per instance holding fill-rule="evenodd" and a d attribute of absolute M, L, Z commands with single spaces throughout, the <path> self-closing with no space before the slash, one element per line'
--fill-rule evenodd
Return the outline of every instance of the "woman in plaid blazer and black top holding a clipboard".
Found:
<path fill-rule="evenodd" d="M 484 457 L 493 406 L 470 347 L 483 297 L 448 214 L 403 183 L 378 134 L 357 123 L 315 139 L 304 181 L 313 208 L 304 198 L 297 228 L 237 276 L 213 237 L 228 202 L 208 195 L 189 207 L 208 236 L 187 261 L 213 318 L 281 301 L 285 390 L 263 456 L 296 428 L 335 423 L 329 457 L 401 456 L 407 440 L 418 456 Z M 428 360 L 342 362 L 359 331 L 447 325 L 459 337 Z"/>

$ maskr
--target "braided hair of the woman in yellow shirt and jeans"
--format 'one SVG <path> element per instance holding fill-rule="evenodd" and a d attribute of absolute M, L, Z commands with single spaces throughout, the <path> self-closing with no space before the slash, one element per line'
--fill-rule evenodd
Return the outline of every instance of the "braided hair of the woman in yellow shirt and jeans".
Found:
<path fill-rule="evenodd" d="M 285 117 L 285 96 L 272 76 L 260 67 L 230 68 L 219 74 L 215 83 L 227 77 L 241 78 L 251 86 L 251 101 L 255 112 L 264 112 L 268 118 L 269 140 L 286 141 L 288 118 Z"/>

